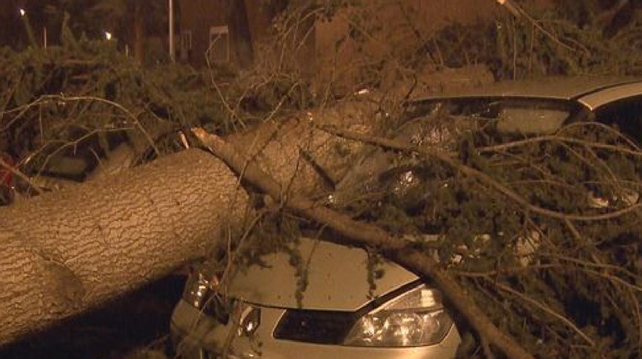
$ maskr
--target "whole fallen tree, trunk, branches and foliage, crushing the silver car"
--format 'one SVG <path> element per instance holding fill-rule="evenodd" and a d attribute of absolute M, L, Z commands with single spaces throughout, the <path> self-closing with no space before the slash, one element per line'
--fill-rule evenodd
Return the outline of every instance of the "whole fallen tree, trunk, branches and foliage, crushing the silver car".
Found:
<path fill-rule="evenodd" d="M 530 46 L 528 51 L 517 51 L 533 43 L 525 40 L 531 39 L 526 35 L 530 34 L 539 44 L 548 42 L 550 34 L 533 33 L 535 28 L 529 22 L 520 22 L 516 27 L 511 22 L 512 18 L 503 21 L 508 24 L 505 28 L 512 32 L 500 34 L 501 41 L 498 41 L 497 47 L 502 51 L 489 51 L 491 58 L 501 57 L 498 62 L 501 68 L 495 69 L 497 73 L 503 74 L 502 76 L 512 73 L 519 77 L 519 74 L 531 73 L 531 66 L 542 67 L 549 64 L 549 58 L 559 60 L 559 56 L 555 54 L 563 52 L 563 46 L 550 48 L 538 45 Z M 525 24 L 526 30 L 521 28 Z M 576 30 L 573 28 L 571 32 L 575 34 Z M 471 29 L 464 31 L 470 35 Z M 480 34 L 482 32 L 473 31 L 473 35 Z M 437 41 L 417 47 L 421 51 L 413 54 L 423 56 L 426 49 L 431 53 L 439 53 L 440 48 L 446 48 L 441 40 L 448 42 L 452 40 L 449 36 L 456 37 L 457 33 L 453 35 L 446 31 L 441 35 Z M 575 37 L 571 36 L 571 39 Z M 480 43 L 477 40 L 471 41 Z M 464 41 L 462 46 L 450 48 L 451 51 L 445 54 L 446 58 L 442 58 L 440 65 L 448 66 L 453 59 L 464 58 L 461 48 L 466 47 L 467 43 Z M 515 56 L 505 56 L 504 47 L 512 48 Z M 541 51 L 538 55 L 537 51 L 541 48 L 546 51 Z M 471 49 L 474 52 L 474 48 Z M 614 52 L 604 53 L 612 55 Z M 555 56 L 550 56 L 551 53 Z M 573 53 L 577 58 L 566 58 L 570 64 L 568 68 L 564 66 L 564 61 L 562 64 L 551 61 L 550 68 L 542 67 L 542 73 L 573 73 L 577 71 L 577 67 L 581 67 L 584 58 L 582 53 L 584 52 Z M 637 63 L 637 58 L 636 55 L 632 63 Z M 22 60 L 25 59 L 18 58 L 15 63 L 22 65 Z M 363 71 L 378 74 L 382 64 L 396 64 L 394 60 L 386 58 L 383 61 L 367 62 L 372 67 Z M 620 58 L 615 60 L 618 60 L 617 64 L 621 63 Z M 622 63 L 629 62 L 623 60 Z M 601 69 L 600 66 L 597 68 Z M 213 106 L 215 108 L 209 111 L 200 107 L 202 102 L 191 101 L 195 94 L 207 98 L 207 92 L 184 89 L 182 94 L 180 91 L 171 93 L 168 90 L 171 86 L 159 86 L 156 82 L 148 86 L 150 83 L 145 81 L 146 78 L 137 69 L 127 67 L 122 72 L 105 71 L 105 59 L 96 62 L 87 58 L 53 57 L 41 61 L 36 66 L 37 71 L 29 66 L 19 67 L 20 71 L 16 76 L 3 77 L 8 79 L 3 85 L 4 89 L 15 87 L 17 90 L 3 91 L 2 102 L 7 110 L 0 112 L 3 116 L 0 118 L 3 131 L 11 132 L 12 141 L 19 143 L 25 137 L 28 138 L 25 142 L 31 141 L 20 143 L 19 150 L 35 148 L 35 152 L 38 152 L 48 144 L 42 141 L 43 135 L 50 135 L 58 127 L 66 130 L 87 123 L 91 124 L 87 126 L 90 134 L 94 130 L 105 134 L 110 126 L 119 125 L 121 128 L 116 130 L 126 131 L 127 141 L 141 148 L 152 146 L 155 153 L 164 151 L 158 146 L 157 134 L 150 129 L 158 129 L 160 125 L 167 125 L 175 130 L 179 127 L 178 123 L 180 128 L 186 128 L 197 122 L 204 122 L 213 132 L 227 134 L 252 124 L 241 113 L 241 103 L 248 97 L 246 92 L 236 98 L 226 98 L 218 92 L 221 103 L 216 103 Z M 105 75 L 104 78 L 100 76 L 98 85 L 88 81 L 86 76 L 89 70 L 94 71 L 96 67 L 103 69 L 101 74 Z M 276 182 L 268 187 L 261 186 L 261 182 L 255 184 L 263 187 L 282 206 L 291 206 L 295 212 L 310 216 L 318 222 L 334 223 L 336 229 L 343 231 L 341 233 L 345 238 L 351 238 L 351 243 L 381 249 L 388 258 L 417 273 L 433 277 L 455 307 L 472 324 L 480 337 L 478 344 L 483 347 L 486 356 L 492 357 L 493 349 L 499 349 L 511 358 L 537 355 L 586 357 L 587 353 L 600 355 L 612 351 L 623 353 L 623 356 L 635 356 L 639 353 L 639 340 L 636 342 L 636 338 L 642 336 L 642 331 L 638 329 L 642 328 L 642 315 L 639 314 L 638 306 L 639 283 L 642 281 L 638 262 L 632 259 L 638 256 L 636 238 L 627 240 L 618 237 L 610 241 L 612 238 L 605 240 L 602 237 L 603 234 L 621 228 L 618 226 L 628 226 L 627 229 L 639 232 L 634 224 L 639 216 L 639 208 L 623 207 L 618 203 L 618 211 L 607 213 L 578 209 L 575 205 L 581 201 L 573 204 L 573 198 L 586 195 L 586 191 L 580 191 L 580 197 L 572 197 L 569 193 L 575 190 L 575 184 L 569 186 L 569 183 L 556 177 L 559 173 L 571 173 L 572 177 L 578 173 L 599 172 L 601 179 L 608 179 L 610 182 L 605 182 L 613 185 L 604 192 L 621 198 L 621 184 L 628 181 L 628 185 L 635 187 L 639 181 L 629 177 L 620 181 L 611 172 L 612 164 L 618 161 L 612 163 L 612 159 L 603 157 L 602 152 L 614 150 L 619 154 L 628 153 L 632 157 L 639 157 L 638 148 L 621 146 L 621 143 L 600 143 L 598 139 L 586 137 L 586 134 L 580 132 L 575 137 L 551 136 L 481 148 L 462 147 L 461 153 L 425 153 L 408 144 L 361 136 L 363 132 L 372 131 L 378 125 L 376 121 L 372 121 L 377 112 L 377 103 L 363 103 L 363 110 L 356 111 L 352 116 L 339 113 L 333 120 L 327 121 L 343 127 L 354 125 L 351 129 L 359 130 L 356 134 L 345 128 L 335 131 L 336 128 L 310 127 L 309 119 L 313 118 L 316 122 L 319 117 L 314 113 L 309 118 L 306 115 L 302 118 L 293 117 L 291 121 L 273 121 L 277 112 L 281 114 L 279 110 L 283 103 L 295 103 L 299 101 L 299 97 L 301 103 L 308 100 L 304 96 L 306 89 L 301 85 L 300 79 L 296 76 L 284 76 L 281 64 L 278 67 L 276 76 L 272 76 L 275 73 L 265 71 L 269 76 L 262 74 L 267 80 L 260 78 L 259 85 L 252 83 L 248 86 L 251 89 L 249 92 L 254 92 L 254 98 L 250 100 L 260 98 L 261 91 L 270 92 L 270 96 L 266 97 L 272 101 L 267 103 L 268 107 L 273 108 L 259 116 L 265 123 L 249 132 L 226 138 L 230 143 L 236 144 L 243 155 L 242 160 L 237 159 L 232 163 L 241 178 L 256 180 L 256 176 L 251 174 L 254 173 L 254 164 L 258 163 L 262 171 Z M 526 68 L 528 71 L 525 71 Z M 114 76 L 114 73 L 118 76 Z M 126 76 L 121 76 L 123 73 Z M 22 80 L 24 78 L 28 80 Z M 74 91 L 78 93 L 70 95 L 66 89 L 62 91 L 58 86 L 60 78 L 62 82 L 78 85 L 74 87 Z M 198 76 L 191 78 L 198 80 L 189 82 L 186 87 L 203 81 Z M 216 79 L 213 75 L 211 85 L 219 91 L 220 85 L 214 81 Z M 141 86 L 141 83 L 146 85 Z M 24 85 L 28 85 L 28 88 L 24 89 Z M 293 95 L 295 92 L 298 94 L 297 91 L 301 96 Z M 65 94 L 47 95 L 51 92 Z M 177 100 L 184 104 L 175 106 Z M 182 109 L 188 111 L 182 112 Z M 381 112 L 387 111 L 379 111 L 379 114 Z M 45 125 L 51 127 L 45 126 L 44 130 L 38 130 L 36 125 L 41 113 L 51 119 L 45 121 Z M 346 118 L 357 121 L 346 123 Z M 254 118 L 255 122 L 256 119 Z M 356 139 L 358 142 L 351 144 L 339 141 L 326 132 Z M 70 150 L 87 136 L 84 132 L 80 139 L 78 136 L 67 135 L 44 138 L 58 141 L 62 143 L 60 148 Z M 104 146 L 106 148 L 109 147 L 107 137 L 102 137 L 102 141 L 107 143 Z M 591 141 L 586 141 L 586 138 Z M 433 162 L 446 164 L 451 170 L 448 173 L 451 177 L 454 177 L 455 169 L 454 172 L 459 177 L 452 193 L 453 197 L 464 197 L 463 209 L 456 212 L 452 206 L 445 207 L 453 211 L 448 217 L 449 232 L 444 236 L 447 240 L 442 238 L 438 243 L 441 247 L 437 249 L 444 266 L 447 267 L 448 263 L 452 267 L 444 268 L 432 261 L 430 256 L 426 256 L 431 253 L 429 249 L 435 250 L 431 248 L 435 243 L 408 245 L 399 240 L 400 233 L 404 233 L 406 229 L 416 229 L 412 223 L 417 218 L 398 216 L 397 212 L 400 211 L 396 211 L 394 206 L 380 209 L 368 206 L 372 203 L 365 202 L 358 210 L 343 208 L 347 215 L 336 216 L 327 209 L 312 206 L 317 202 L 301 199 L 301 196 L 331 193 L 338 179 L 346 172 L 345 163 L 339 161 L 340 157 L 348 155 L 347 162 L 354 159 L 358 152 L 356 150 L 363 142 L 393 149 L 406 156 L 412 153 L 408 157 L 418 156 L 424 162 L 431 162 L 426 159 L 436 160 Z M 542 146 L 538 147 L 540 143 Z M 33 144 L 35 146 L 28 146 Z M 554 163 L 553 168 L 546 167 L 546 171 L 541 171 L 544 173 L 542 177 L 526 179 L 527 181 L 519 176 L 512 177 L 517 173 L 516 166 L 513 165 L 515 162 L 527 163 L 531 166 L 528 170 L 541 170 L 538 166 L 542 164 L 544 154 L 555 153 L 560 147 L 570 149 L 564 153 L 577 161 L 571 164 Z M 514 153 L 510 152 L 512 148 L 532 150 L 532 153 L 519 157 L 520 161 L 516 161 Z M 501 161 L 499 165 L 487 162 L 477 152 L 492 153 Z M 594 161 L 588 161 L 589 159 Z M 586 166 L 577 166 L 577 162 Z M 638 165 L 635 163 L 629 161 L 629 164 L 619 166 L 621 163 L 618 162 L 616 172 L 618 175 L 620 170 L 636 173 Z M 248 171 L 247 175 L 245 171 Z M 261 177 L 260 173 L 258 177 Z M 530 181 L 528 183 L 533 185 L 514 186 L 517 181 Z M 279 186 L 274 183 L 279 183 Z M 544 184 L 551 186 L 547 188 Z M 204 256 L 207 247 L 212 244 L 213 238 L 220 236 L 220 232 L 223 232 L 223 236 L 232 237 L 232 229 L 244 227 L 245 220 L 248 219 L 246 213 L 250 213 L 249 209 L 255 205 L 250 198 L 259 198 L 259 202 L 263 200 L 261 193 L 254 193 L 254 188 L 249 188 L 250 197 L 245 191 L 239 190 L 239 180 L 232 171 L 227 170 L 220 162 L 204 157 L 203 153 L 190 150 L 125 171 L 117 177 L 96 180 L 93 184 L 88 182 L 73 190 L 43 195 L 2 209 L 0 225 L 3 232 L 0 237 L 6 245 L 0 249 L 0 255 L 3 256 L 0 260 L 0 271 L 3 273 L 0 285 L 5 289 L 3 295 L 0 295 L 0 300 L 3 301 L 0 304 L 0 315 L 4 320 L 0 320 L 0 324 L 3 324 L 0 329 L 0 344 L 98 306 L 123 291 L 162 276 L 191 259 Z M 547 200 L 546 198 L 555 197 L 551 197 L 551 193 L 555 191 L 563 193 L 561 200 Z M 388 221 L 377 222 L 377 215 L 382 213 L 374 212 L 388 210 L 390 213 L 383 213 L 390 215 Z M 465 212 L 465 216 L 460 215 L 462 212 Z M 499 238 L 497 243 L 492 242 L 488 246 L 477 243 L 477 235 L 480 233 L 506 233 L 503 231 L 503 224 L 497 223 L 501 222 L 497 218 L 505 217 L 498 217 L 498 213 L 508 217 L 514 215 L 513 218 L 517 220 L 508 224 L 514 227 L 522 225 L 523 231 L 510 238 Z M 379 229 L 350 222 L 354 219 L 375 222 Z M 603 220 L 611 222 L 605 225 L 600 222 Z M 619 220 L 622 221 L 618 223 Z M 372 236 L 362 238 L 363 233 L 352 231 L 351 226 Z M 537 232 L 538 238 L 543 238 L 544 246 L 532 256 L 534 259 L 529 259 L 536 261 L 535 265 L 519 267 L 516 258 L 507 253 L 510 251 L 506 249 L 519 245 L 519 239 L 532 231 Z M 469 260 L 456 266 L 449 261 L 454 255 L 461 255 Z M 462 288 L 465 295 L 462 295 Z M 594 293 L 591 292 L 593 290 Z M 591 298 L 591 295 L 596 298 Z M 585 311 L 575 313 L 573 308 L 567 308 L 569 303 L 573 303 L 573 296 L 580 298 L 583 305 L 587 303 L 589 309 L 586 312 L 594 311 L 599 315 L 590 313 L 589 320 L 578 320 Z M 483 311 L 478 307 L 482 307 Z"/>

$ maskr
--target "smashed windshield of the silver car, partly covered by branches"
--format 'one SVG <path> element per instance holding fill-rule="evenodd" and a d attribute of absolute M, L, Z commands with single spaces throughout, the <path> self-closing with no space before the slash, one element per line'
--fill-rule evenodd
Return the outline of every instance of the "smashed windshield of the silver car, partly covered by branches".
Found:
<path fill-rule="evenodd" d="M 455 151 L 462 139 L 477 146 L 515 138 L 553 134 L 575 111 L 566 101 L 504 98 L 455 98 L 419 101 L 407 109 L 408 120 L 394 131 L 397 141 L 423 148 Z M 385 197 L 406 211 L 429 206 L 446 190 L 449 169 L 422 159 L 369 147 L 338 183 L 331 198 L 340 206 L 358 197 Z M 435 223 L 438 227 L 438 223 Z"/>

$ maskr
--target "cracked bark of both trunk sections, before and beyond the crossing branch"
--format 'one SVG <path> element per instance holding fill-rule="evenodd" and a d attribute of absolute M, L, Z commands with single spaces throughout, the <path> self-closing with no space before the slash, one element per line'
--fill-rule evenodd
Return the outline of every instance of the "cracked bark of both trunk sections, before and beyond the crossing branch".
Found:
<path fill-rule="evenodd" d="M 344 103 L 227 141 L 292 193 L 319 195 L 328 188 L 301 153 L 338 179 L 363 144 L 311 121 L 369 132 L 376 110 Z M 0 346 L 203 256 L 219 231 L 243 225 L 247 209 L 236 175 L 200 150 L 0 208 Z"/>

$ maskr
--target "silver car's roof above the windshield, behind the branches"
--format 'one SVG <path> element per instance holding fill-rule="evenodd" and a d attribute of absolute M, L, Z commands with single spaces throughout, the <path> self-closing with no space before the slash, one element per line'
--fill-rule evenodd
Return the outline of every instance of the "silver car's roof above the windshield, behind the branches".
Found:
<path fill-rule="evenodd" d="M 621 98 L 642 94 L 642 79 L 629 76 L 553 76 L 508 80 L 431 94 L 422 100 L 465 97 L 517 97 L 577 100 L 595 109 Z"/>

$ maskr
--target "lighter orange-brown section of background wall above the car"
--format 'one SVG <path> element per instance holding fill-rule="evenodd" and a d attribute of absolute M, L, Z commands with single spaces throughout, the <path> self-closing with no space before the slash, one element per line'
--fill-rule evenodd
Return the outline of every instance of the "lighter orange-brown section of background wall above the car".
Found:
<path fill-rule="evenodd" d="M 545 7 L 551 6 L 554 0 L 531 1 L 535 6 Z M 354 64 L 390 53 L 403 54 L 417 46 L 417 37 L 427 41 L 447 24 L 492 21 L 507 12 L 496 0 L 369 0 L 364 4 L 361 8 L 347 8 L 331 21 L 317 24 L 318 83 L 331 80 L 338 87 L 342 87 L 342 82 L 359 83 L 363 74 L 356 72 L 358 67 Z M 352 21 L 354 17 L 360 19 L 358 23 Z M 358 37 L 367 40 L 358 43 L 352 40 L 349 34 L 354 35 L 355 31 L 359 32 Z"/>

